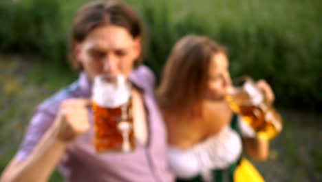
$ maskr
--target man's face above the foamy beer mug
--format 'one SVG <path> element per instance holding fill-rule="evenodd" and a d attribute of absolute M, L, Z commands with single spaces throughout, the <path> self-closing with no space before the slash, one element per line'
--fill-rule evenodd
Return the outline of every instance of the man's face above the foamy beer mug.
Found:
<path fill-rule="evenodd" d="M 140 38 L 133 39 L 126 28 L 100 26 L 76 44 L 74 54 L 90 79 L 105 74 L 111 79 L 118 74 L 128 77 L 133 63 L 140 57 Z"/>

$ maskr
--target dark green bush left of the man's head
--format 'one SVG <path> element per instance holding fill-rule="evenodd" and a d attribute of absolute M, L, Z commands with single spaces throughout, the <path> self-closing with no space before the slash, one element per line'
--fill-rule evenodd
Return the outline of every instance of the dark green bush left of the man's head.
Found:
<path fill-rule="evenodd" d="M 58 1 L 0 3 L 0 12 L 1 52 L 39 54 L 46 63 L 66 65 L 66 33 Z"/>

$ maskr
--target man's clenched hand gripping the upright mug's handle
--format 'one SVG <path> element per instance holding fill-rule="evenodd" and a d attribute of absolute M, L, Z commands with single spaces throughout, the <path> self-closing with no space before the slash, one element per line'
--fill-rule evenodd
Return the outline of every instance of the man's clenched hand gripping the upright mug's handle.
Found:
<path fill-rule="evenodd" d="M 89 130 L 87 99 L 68 99 L 61 104 L 54 127 L 61 141 L 73 141 Z"/>

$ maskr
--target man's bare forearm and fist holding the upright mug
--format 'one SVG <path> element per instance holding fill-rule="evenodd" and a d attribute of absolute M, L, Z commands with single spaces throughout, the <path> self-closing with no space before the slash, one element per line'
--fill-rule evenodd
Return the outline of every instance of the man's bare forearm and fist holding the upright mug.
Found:
<path fill-rule="evenodd" d="M 23 161 L 13 159 L 0 181 L 47 181 L 65 152 L 69 141 L 89 129 L 87 101 L 65 101 L 52 126 L 45 132 L 32 153 Z"/>

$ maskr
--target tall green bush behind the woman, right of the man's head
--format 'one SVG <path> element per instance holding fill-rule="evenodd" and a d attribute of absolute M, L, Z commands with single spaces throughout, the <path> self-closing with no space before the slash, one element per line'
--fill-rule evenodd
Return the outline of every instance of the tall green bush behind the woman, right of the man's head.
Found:
<path fill-rule="evenodd" d="M 248 8 L 256 3 L 244 3 L 247 2 Z M 150 28 L 147 64 L 160 75 L 175 41 L 184 34 L 206 34 L 228 47 L 232 77 L 249 74 L 255 79 L 266 79 L 275 90 L 278 105 L 321 110 L 322 8 L 317 1 L 292 1 L 287 10 L 272 10 L 269 16 L 263 15 L 264 8 L 286 2 L 261 1 L 264 4 L 257 4 L 259 9 L 254 12 L 257 17 L 250 12 L 251 8 L 243 12 L 238 4 L 228 3 L 227 10 L 213 13 L 211 19 L 207 19 L 208 14 L 193 10 L 180 17 L 180 10 L 171 11 L 169 3 L 144 3 L 141 11 Z M 287 16 L 283 11 L 288 12 Z"/>

